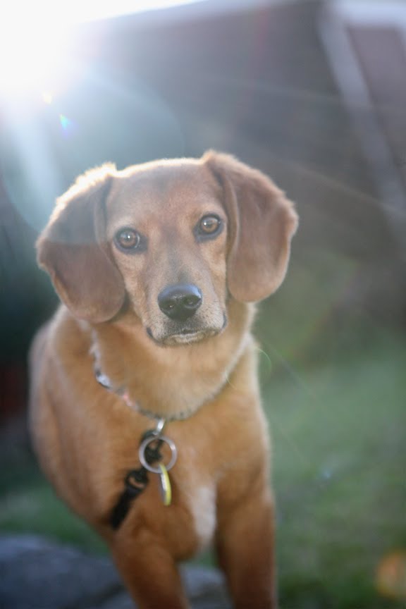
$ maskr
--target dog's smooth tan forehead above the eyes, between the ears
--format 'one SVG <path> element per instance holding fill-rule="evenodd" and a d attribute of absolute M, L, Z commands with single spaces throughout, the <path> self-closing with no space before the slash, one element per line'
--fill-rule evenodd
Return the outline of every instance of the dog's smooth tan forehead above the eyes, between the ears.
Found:
<path fill-rule="evenodd" d="M 193 209 L 219 201 L 220 187 L 201 164 L 164 162 L 118 172 L 113 180 L 109 208 L 113 216 L 130 213 L 160 214 Z"/>

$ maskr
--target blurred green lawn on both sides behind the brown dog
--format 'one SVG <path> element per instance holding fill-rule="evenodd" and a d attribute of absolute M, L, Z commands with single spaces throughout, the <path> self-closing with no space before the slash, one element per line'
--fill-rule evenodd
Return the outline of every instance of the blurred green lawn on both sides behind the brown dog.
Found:
<path fill-rule="evenodd" d="M 406 595 L 383 596 L 377 587 L 381 562 L 395 551 L 406 555 L 402 337 L 369 336 L 364 347 L 329 351 L 319 362 L 292 355 L 294 365 L 269 340 L 264 333 L 261 359 L 281 606 L 405 608 Z M 30 455 L 0 471 L 0 529 L 104 551 L 55 498 Z"/>

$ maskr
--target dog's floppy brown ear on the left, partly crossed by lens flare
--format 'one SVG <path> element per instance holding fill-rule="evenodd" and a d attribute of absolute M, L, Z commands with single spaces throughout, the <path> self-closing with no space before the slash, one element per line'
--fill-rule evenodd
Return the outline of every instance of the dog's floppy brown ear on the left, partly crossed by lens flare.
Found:
<path fill-rule="evenodd" d="M 37 241 L 37 259 L 61 300 L 77 317 L 101 322 L 123 305 L 121 273 L 104 241 L 104 201 L 114 166 L 85 173 L 61 197 Z"/>

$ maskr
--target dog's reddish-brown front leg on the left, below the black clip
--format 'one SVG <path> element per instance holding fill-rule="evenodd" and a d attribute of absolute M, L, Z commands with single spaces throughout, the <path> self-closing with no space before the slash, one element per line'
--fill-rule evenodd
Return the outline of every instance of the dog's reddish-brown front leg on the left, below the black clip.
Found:
<path fill-rule="evenodd" d="M 123 527 L 111 550 L 137 608 L 189 608 L 176 562 L 156 536 L 149 531 L 133 536 Z"/>

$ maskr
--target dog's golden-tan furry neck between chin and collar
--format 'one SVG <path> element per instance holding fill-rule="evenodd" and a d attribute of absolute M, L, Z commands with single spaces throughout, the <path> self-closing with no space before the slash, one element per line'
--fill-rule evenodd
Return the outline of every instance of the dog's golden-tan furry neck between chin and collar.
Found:
<path fill-rule="evenodd" d="M 141 412 L 164 419 L 189 417 L 220 393 L 251 340 L 253 305 L 231 300 L 221 334 L 176 347 L 156 345 L 135 314 L 93 328 L 92 352 L 111 388 L 125 390 Z M 245 337 L 245 338 L 244 338 Z"/>

